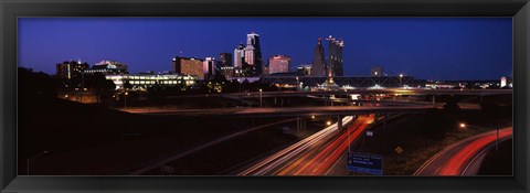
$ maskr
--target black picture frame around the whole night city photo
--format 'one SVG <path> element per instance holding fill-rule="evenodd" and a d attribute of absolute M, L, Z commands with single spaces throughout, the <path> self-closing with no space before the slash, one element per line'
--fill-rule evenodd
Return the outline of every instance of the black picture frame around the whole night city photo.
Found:
<path fill-rule="evenodd" d="M 1 192 L 529 192 L 528 0 L 0 0 Z M 18 176 L 20 17 L 512 17 L 513 176 Z"/>

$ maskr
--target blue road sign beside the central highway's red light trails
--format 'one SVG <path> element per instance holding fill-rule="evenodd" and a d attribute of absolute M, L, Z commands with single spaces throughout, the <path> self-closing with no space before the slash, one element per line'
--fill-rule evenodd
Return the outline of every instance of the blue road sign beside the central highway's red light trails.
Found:
<path fill-rule="evenodd" d="M 379 154 L 348 153 L 347 169 L 353 172 L 383 174 L 383 157 Z"/>

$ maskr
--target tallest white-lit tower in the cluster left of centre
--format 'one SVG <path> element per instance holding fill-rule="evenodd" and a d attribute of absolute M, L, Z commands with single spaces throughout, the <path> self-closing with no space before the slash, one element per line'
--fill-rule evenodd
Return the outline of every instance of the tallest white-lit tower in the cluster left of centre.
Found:
<path fill-rule="evenodd" d="M 262 74 L 262 49 L 259 46 L 259 35 L 257 33 L 246 34 L 245 63 L 248 65 L 252 75 Z"/>

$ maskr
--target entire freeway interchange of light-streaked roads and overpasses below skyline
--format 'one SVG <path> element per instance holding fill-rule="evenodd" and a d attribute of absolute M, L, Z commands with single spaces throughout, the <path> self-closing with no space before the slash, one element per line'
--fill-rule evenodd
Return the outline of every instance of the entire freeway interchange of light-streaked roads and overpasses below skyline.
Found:
<path fill-rule="evenodd" d="M 365 93 L 364 93 L 365 92 Z M 373 94 L 374 90 L 356 90 L 356 94 Z M 353 92 L 352 92 L 353 93 Z M 511 90 L 431 90 L 431 89 L 380 89 L 375 90 L 385 95 L 498 95 L 511 94 Z M 229 98 L 256 98 L 259 97 L 309 97 L 309 96 L 346 96 L 351 93 L 344 92 L 271 92 L 271 93 L 240 93 L 240 94 L 216 94 L 200 95 L 193 97 L 229 97 Z M 190 96 L 183 96 L 190 97 Z M 340 98 L 339 98 L 340 100 Z M 433 99 L 434 100 L 434 99 Z M 348 104 L 349 99 L 344 100 Z M 352 152 L 350 147 L 365 136 L 365 131 L 378 121 L 378 118 L 395 114 L 423 114 L 427 110 L 443 109 L 439 104 L 430 101 L 399 101 L 389 100 L 370 101 L 357 100 L 362 106 L 310 106 L 310 107 L 252 107 L 252 108 L 128 108 L 121 109 L 131 114 L 150 116 L 221 116 L 221 117 L 337 117 L 337 122 L 329 124 L 324 129 L 307 136 L 275 152 L 264 154 L 259 159 L 248 162 L 229 172 L 233 175 L 333 175 L 348 174 L 344 172 L 344 154 Z M 480 110 L 478 104 L 460 104 L 464 110 Z M 340 121 L 339 121 L 340 119 Z M 386 121 L 386 118 L 384 118 Z M 386 122 L 384 122 L 386 125 Z M 499 139 L 501 141 L 511 138 L 511 128 L 501 129 Z M 426 160 L 413 175 L 474 175 L 477 174 L 480 161 L 485 153 L 491 149 L 491 143 L 497 136 L 492 131 L 476 135 L 465 140 L 446 147 L 431 159 Z M 227 138 L 223 138 L 223 141 Z M 219 143 L 220 140 L 213 143 Z M 210 142 L 212 143 L 212 142 Z M 210 144 L 208 143 L 208 144 Z M 212 143 L 212 144 L 213 144 Z M 157 165 L 148 165 L 131 174 L 142 174 Z M 339 172 L 338 172 L 339 171 Z"/>

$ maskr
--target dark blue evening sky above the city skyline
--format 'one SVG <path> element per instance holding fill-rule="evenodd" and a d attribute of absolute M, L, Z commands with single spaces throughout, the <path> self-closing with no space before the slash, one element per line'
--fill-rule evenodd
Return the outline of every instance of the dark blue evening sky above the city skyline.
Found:
<path fill-rule="evenodd" d="M 131 73 L 171 71 L 173 56 L 233 53 L 253 31 L 264 61 L 286 54 L 294 65 L 312 63 L 319 36 L 342 37 L 346 75 L 374 65 L 426 79 L 512 73 L 511 18 L 22 18 L 19 65 L 54 74 L 66 60 L 114 60 Z"/>

